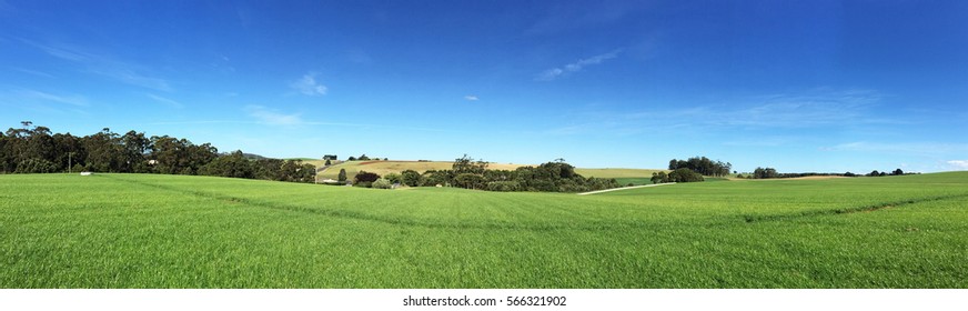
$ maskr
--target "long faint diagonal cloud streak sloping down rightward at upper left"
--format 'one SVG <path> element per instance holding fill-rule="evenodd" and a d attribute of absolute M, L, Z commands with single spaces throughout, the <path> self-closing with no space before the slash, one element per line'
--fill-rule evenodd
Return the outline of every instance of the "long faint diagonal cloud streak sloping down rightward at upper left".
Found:
<path fill-rule="evenodd" d="M 145 74 L 144 72 L 150 70 L 140 64 L 93 53 L 68 44 L 48 44 L 30 40 L 21 41 L 43 51 L 48 56 L 77 63 L 83 72 L 102 76 L 135 87 L 165 92 L 174 90 L 167 80 Z"/>

